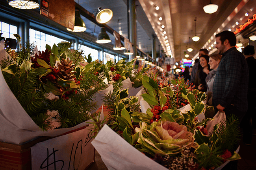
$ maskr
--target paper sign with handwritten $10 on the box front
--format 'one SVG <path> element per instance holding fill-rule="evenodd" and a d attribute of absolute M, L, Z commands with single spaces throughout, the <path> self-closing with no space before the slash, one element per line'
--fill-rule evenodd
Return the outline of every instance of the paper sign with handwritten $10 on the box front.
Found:
<path fill-rule="evenodd" d="M 94 161 L 92 126 L 31 147 L 33 170 L 84 170 Z"/>

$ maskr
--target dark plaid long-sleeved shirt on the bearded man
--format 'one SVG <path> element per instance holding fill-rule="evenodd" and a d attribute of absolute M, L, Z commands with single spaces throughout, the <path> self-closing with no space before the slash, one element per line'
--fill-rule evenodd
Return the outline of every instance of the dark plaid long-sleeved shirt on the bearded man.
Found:
<path fill-rule="evenodd" d="M 213 83 L 213 106 L 224 108 L 233 104 L 241 112 L 246 112 L 249 70 L 242 53 L 235 47 L 223 53 Z"/>

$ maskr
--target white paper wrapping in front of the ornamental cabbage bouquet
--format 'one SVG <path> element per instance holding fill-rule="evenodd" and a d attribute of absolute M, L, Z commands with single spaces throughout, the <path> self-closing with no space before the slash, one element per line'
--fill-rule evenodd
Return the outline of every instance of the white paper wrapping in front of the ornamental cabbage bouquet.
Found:
<path fill-rule="evenodd" d="M 109 170 L 168 170 L 139 152 L 107 125 L 91 144 Z"/>

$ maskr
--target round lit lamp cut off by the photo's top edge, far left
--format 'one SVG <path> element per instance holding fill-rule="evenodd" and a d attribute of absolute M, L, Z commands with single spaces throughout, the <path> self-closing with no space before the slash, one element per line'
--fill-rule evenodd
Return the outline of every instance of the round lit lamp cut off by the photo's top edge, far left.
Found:
<path fill-rule="evenodd" d="M 35 9 L 39 7 L 38 0 L 7 0 L 11 7 L 18 9 Z"/>

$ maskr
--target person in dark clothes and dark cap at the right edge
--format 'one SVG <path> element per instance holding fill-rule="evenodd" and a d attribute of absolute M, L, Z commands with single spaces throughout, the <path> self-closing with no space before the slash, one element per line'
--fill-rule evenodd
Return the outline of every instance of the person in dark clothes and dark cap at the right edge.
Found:
<path fill-rule="evenodd" d="M 248 110 L 243 117 L 241 122 L 241 128 L 243 129 L 243 142 L 246 145 L 251 145 L 252 143 L 252 131 L 256 128 L 255 118 L 256 118 L 256 59 L 254 56 L 254 46 L 246 46 L 244 49 L 244 55 L 249 68 L 249 86 L 248 86 Z M 251 124 L 252 121 L 252 124 Z"/>

